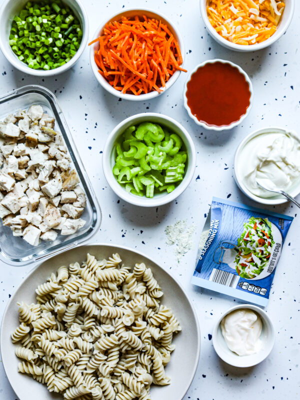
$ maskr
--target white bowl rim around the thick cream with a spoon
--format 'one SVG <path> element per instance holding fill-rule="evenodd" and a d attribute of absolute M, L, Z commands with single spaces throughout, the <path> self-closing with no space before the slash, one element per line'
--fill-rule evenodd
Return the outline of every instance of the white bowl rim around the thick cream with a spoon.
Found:
<path fill-rule="evenodd" d="M 238 174 L 235 173 L 235 166 L 237 165 L 237 158 L 239 156 L 239 152 L 241 151 L 241 149 L 243 148 L 243 146 L 253 137 L 258 136 L 259 134 L 263 134 L 263 133 L 271 133 L 274 131 L 278 131 L 278 132 L 290 132 L 292 133 L 294 136 L 296 136 L 299 140 L 300 140 L 300 135 L 295 132 L 294 130 L 288 130 L 284 127 L 279 127 L 279 126 L 267 126 L 264 128 L 259 128 L 254 130 L 253 132 L 249 133 L 247 136 L 245 136 L 242 141 L 239 143 L 239 145 L 237 146 L 236 150 L 235 150 L 235 154 L 234 154 L 234 161 L 233 161 L 233 176 L 235 179 L 235 182 L 237 184 L 237 186 L 240 188 L 240 190 L 246 194 L 249 198 L 251 198 L 252 200 L 261 203 L 261 204 L 267 204 L 267 205 L 278 205 L 278 204 L 283 204 L 288 202 L 289 200 L 285 197 L 282 196 L 282 198 L 278 197 L 278 198 L 264 198 L 264 197 L 259 197 L 256 196 L 255 194 L 253 194 L 250 190 L 248 190 L 246 188 L 246 186 L 243 184 L 242 180 L 239 179 Z M 299 178 L 300 180 L 300 178 Z M 299 182 L 299 191 L 297 192 L 297 194 L 293 194 L 293 196 L 297 196 L 300 193 L 300 182 Z"/>

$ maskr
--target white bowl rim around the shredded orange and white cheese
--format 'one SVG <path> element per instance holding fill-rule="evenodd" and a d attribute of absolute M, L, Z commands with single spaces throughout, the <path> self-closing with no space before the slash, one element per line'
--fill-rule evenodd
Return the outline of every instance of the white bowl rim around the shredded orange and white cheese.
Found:
<path fill-rule="evenodd" d="M 206 12 L 206 2 L 207 0 L 200 0 L 199 5 L 200 5 L 200 12 L 201 16 L 203 19 L 203 22 L 206 26 L 206 29 L 208 30 L 209 34 L 217 41 L 219 44 L 223 45 L 224 47 L 230 48 L 231 50 L 234 51 L 256 51 L 256 50 L 261 50 L 262 48 L 265 48 L 271 44 L 273 44 L 276 40 L 278 40 L 287 30 L 292 17 L 294 13 L 294 6 L 295 6 L 295 1 L 294 0 L 289 0 L 290 1 L 290 7 L 288 8 L 288 18 L 285 21 L 284 26 L 282 29 L 279 30 L 280 23 L 278 25 L 278 29 L 266 40 L 256 43 L 256 44 L 251 44 L 251 45 L 243 45 L 243 44 L 235 44 L 232 43 L 229 40 L 224 39 L 221 35 L 219 35 L 214 27 L 211 25 L 209 22 L 207 12 Z M 285 12 L 285 10 L 284 10 Z M 276 34 L 277 33 L 277 34 Z"/>

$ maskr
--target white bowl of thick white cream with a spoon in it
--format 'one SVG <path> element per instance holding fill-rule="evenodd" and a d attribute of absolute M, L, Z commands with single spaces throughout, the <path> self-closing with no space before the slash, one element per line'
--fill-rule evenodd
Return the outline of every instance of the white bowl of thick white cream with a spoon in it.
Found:
<path fill-rule="evenodd" d="M 288 201 L 281 194 L 264 190 L 281 189 L 295 197 L 300 193 L 300 137 L 279 127 L 256 130 L 246 136 L 234 156 L 234 178 L 252 200 L 262 204 Z"/>

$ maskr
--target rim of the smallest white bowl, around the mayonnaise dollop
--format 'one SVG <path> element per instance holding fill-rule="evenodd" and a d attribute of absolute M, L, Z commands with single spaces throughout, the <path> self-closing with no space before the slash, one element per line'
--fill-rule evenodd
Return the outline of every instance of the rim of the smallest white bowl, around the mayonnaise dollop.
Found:
<path fill-rule="evenodd" d="M 256 313 L 259 314 L 259 316 L 260 316 L 262 319 L 264 319 L 264 322 L 267 321 L 268 324 L 269 324 L 269 326 L 270 326 L 270 331 L 269 331 L 269 336 L 270 336 L 270 349 L 269 349 L 268 353 L 267 353 L 263 358 L 261 358 L 261 359 L 259 359 L 259 357 L 257 357 L 257 358 L 259 359 L 257 362 L 250 362 L 248 365 L 243 365 L 243 366 L 237 365 L 237 364 L 234 363 L 234 362 L 230 362 L 230 361 L 228 361 L 227 358 L 224 359 L 225 357 L 222 357 L 222 356 L 219 354 L 218 348 L 217 348 L 217 345 L 216 345 L 217 330 L 218 330 L 218 327 L 219 327 L 219 324 L 220 324 L 221 320 L 222 320 L 226 315 L 228 315 L 230 312 L 232 312 L 232 311 L 234 311 L 234 310 L 236 310 L 236 309 L 242 309 L 242 308 L 249 308 L 249 309 L 255 311 Z M 274 331 L 273 322 L 271 321 L 270 317 L 267 315 L 267 313 L 266 313 L 262 308 L 258 307 L 257 305 L 254 305 L 254 304 L 248 304 L 248 303 L 245 303 L 245 304 L 237 304 L 237 305 L 234 305 L 233 307 L 228 308 L 223 314 L 221 314 L 221 315 L 217 318 L 217 320 L 216 320 L 216 322 L 215 322 L 215 324 L 214 324 L 213 330 L 212 330 L 212 345 L 213 345 L 213 348 L 214 348 L 215 352 L 217 353 L 217 355 L 218 355 L 223 361 L 225 361 L 227 364 L 230 364 L 230 365 L 232 365 L 232 366 L 236 366 L 236 367 L 239 367 L 239 368 L 247 368 L 247 367 L 249 367 L 249 366 L 254 366 L 254 365 L 258 364 L 259 362 L 263 361 L 263 360 L 270 354 L 270 352 L 272 351 L 272 348 L 273 348 L 273 346 L 274 346 L 274 342 L 275 342 L 275 331 Z M 257 353 L 257 354 L 259 354 L 259 353 Z"/>

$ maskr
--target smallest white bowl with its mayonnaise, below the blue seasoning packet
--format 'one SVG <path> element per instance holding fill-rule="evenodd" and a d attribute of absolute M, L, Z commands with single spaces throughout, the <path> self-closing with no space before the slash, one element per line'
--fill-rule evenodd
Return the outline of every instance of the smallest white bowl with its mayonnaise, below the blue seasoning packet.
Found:
<path fill-rule="evenodd" d="M 261 308 L 240 304 L 222 314 L 213 328 L 212 343 L 227 364 L 249 367 L 263 361 L 275 341 L 273 324 Z"/>

